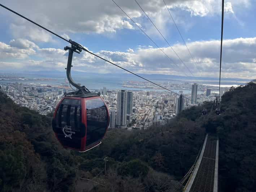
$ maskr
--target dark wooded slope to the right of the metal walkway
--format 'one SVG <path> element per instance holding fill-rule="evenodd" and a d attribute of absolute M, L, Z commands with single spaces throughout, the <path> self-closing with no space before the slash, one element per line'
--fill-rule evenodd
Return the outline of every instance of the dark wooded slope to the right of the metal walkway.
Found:
<path fill-rule="evenodd" d="M 221 191 L 256 189 L 256 84 L 231 88 L 222 96 L 220 118 L 214 122 L 220 139 Z"/>

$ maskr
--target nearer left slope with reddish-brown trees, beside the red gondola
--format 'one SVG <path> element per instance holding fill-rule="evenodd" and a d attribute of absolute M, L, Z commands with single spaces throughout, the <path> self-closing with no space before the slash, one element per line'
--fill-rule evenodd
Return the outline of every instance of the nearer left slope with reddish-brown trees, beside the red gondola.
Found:
<path fill-rule="evenodd" d="M 54 191 L 75 179 L 77 160 L 53 137 L 51 117 L 0 92 L 0 126 L 0 191 Z"/>

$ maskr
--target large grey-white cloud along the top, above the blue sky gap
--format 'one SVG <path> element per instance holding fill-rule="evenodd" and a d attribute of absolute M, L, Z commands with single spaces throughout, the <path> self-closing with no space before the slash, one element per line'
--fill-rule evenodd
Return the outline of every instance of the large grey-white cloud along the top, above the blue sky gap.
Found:
<path fill-rule="evenodd" d="M 220 2 L 214 0 L 165 0 L 168 7 L 172 10 L 185 10 L 191 16 L 212 16 L 220 14 Z M 143 20 L 144 13 L 134 1 L 116 2 L 133 18 L 138 18 L 138 25 L 145 27 L 147 31 L 154 31 L 149 22 Z M 24 0 L 20 3 L 18 0 L 2 2 L 4 5 L 11 7 L 19 13 L 25 14 L 35 22 L 51 29 L 57 33 L 63 34 L 68 38 L 66 33 L 115 33 L 118 29 L 135 29 L 130 19 L 112 2 L 105 0 L 88 1 L 78 0 L 70 3 L 69 0 L 57 1 L 45 0 L 43 2 L 35 0 Z M 165 34 L 165 26 L 170 22 L 168 12 L 162 0 L 139 0 L 140 5 L 148 13 L 153 22 Z M 247 8 L 250 0 L 231 0 L 225 3 L 225 11 L 234 13 L 235 8 Z M 29 7 L 29 9 L 28 9 Z M 65 14 L 63 14 L 65 13 Z M 16 15 L 1 12 L 0 16 L 7 15 L 12 17 L 10 20 L 10 32 L 14 38 L 29 38 L 33 41 L 49 42 L 52 41 L 51 34 L 39 29 L 37 26 L 18 18 Z M 6 16 L 6 17 L 7 17 Z M 144 22 L 143 22 L 144 21 Z M 179 21 L 177 21 L 179 22 Z M 140 24 L 139 24 L 140 23 Z M 143 25 L 142 25 L 143 23 Z M 142 26 L 141 26 L 142 25 Z"/>

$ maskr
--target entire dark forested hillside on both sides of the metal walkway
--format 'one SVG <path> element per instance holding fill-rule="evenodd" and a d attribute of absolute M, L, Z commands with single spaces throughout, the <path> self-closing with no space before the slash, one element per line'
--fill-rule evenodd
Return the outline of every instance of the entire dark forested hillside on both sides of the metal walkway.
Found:
<path fill-rule="evenodd" d="M 1 191 L 166 191 L 194 163 L 205 128 L 220 138 L 220 191 L 256 188 L 256 84 L 222 97 L 222 114 L 201 117 L 203 106 L 183 111 L 169 125 L 113 129 L 86 153 L 63 149 L 51 115 L 19 107 L 0 92 Z M 106 170 L 105 170 L 106 166 Z"/>

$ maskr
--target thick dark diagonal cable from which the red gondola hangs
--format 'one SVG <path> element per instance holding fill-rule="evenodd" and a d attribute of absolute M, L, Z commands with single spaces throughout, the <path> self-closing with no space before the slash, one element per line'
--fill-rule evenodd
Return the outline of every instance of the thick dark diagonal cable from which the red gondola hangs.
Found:
<path fill-rule="evenodd" d="M 6 6 L 2 5 L 2 4 L 0 4 L 0 6 L 3 7 L 3 8 L 5 8 L 5 9 L 7 9 L 7 10 L 9 10 L 10 12 L 13 12 L 13 13 L 17 14 L 18 16 L 20 16 L 20 17 L 26 19 L 27 21 L 30 21 L 30 22 L 34 23 L 35 25 L 41 27 L 42 29 L 44 29 L 44 30 L 50 32 L 50 33 L 53 34 L 53 35 L 56 35 L 57 37 L 59 37 L 59 38 L 65 40 L 66 42 L 69 42 L 70 44 L 77 45 L 77 43 L 72 42 L 72 41 L 69 41 L 69 40 L 67 40 L 67 39 L 65 39 L 65 38 L 63 38 L 63 37 L 61 37 L 60 35 L 57 35 L 56 33 L 54 33 L 54 32 L 52 32 L 52 31 L 46 29 L 45 27 L 39 25 L 38 23 L 36 23 L 36 22 L 34 22 L 34 21 L 28 19 L 27 17 L 22 16 L 21 14 L 15 12 L 14 10 L 9 9 L 8 7 L 6 7 Z M 86 51 L 86 52 L 88 52 L 88 53 L 94 55 L 95 57 L 100 58 L 101 60 L 104 60 L 104 61 L 106 61 L 106 62 L 108 62 L 108 63 L 110 63 L 110 64 L 112 64 L 112 65 L 114 65 L 114 66 L 116 66 L 116 67 L 118 67 L 118 68 L 120 68 L 120 69 L 123 69 L 123 70 L 125 70 L 125 71 L 127 71 L 127 72 L 129 72 L 129 73 L 131 73 L 131 74 L 133 74 L 133 75 L 135 75 L 135 76 L 137 76 L 137 77 L 139 77 L 139 78 L 142 78 L 142 79 L 148 81 L 149 83 L 152 83 L 152 84 L 154 84 L 154 85 L 156 85 L 156 86 L 158 86 L 158 87 L 163 88 L 164 90 L 167 90 L 167 91 L 172 92 L 172 93 L 174 93 L 174 94 L 176 94 L 176 95 L 179 95 L 178 93 L 176 93 L 176 92 L 174 92 L 174 91 L 171 91 L 171 90 L 169 90 L 168 88 L 165 88 L 165 87 L 163 87 L 163 86 L 161 86 L 161 85 L 159 85 L 159 84 L 157 84 L 157 83 L 154 83 L 154 82 L 152 82 L 151 80 L 148 80 L 148 79 L 146 79 L 146 78 L 144 78 L 144 77 L 142 77 L 142 76 L 140 76 L 140 75 L 138 75 L 138 74 L 133 73 L 132 71 L 130 71 L 130 70 L 128 70 L 128 69 L 125 69 L 125 68 L 123 68 L 123 67 L 121 67 L 121 66 L 119 66 L 119 65 L 117 65 L 117 64 L 114 64 L 114 63 L 111 62 L 111 61 L 108 61 L 107 59 L 105 59 L 105 58 L 103 58 L 103 57 L 100 57 L 99 55 L 97 55 L 97 54 L 95 54 L 95 53 L 92 53 L 92 52 L 88 51 L 88 50 L 87 50 L 86 48 L 84 48 L 82 45 L 81 45 L 81 49 L 83 49 L 84 51 Z M 184 97 L 184 96 L 183 96 L 183 97 Z M 188 99 L 188 100 L 191 100 L 191 99 L 189 99 L 189 98 L 187 98 L 187 97 L 184 97 L 184 98 L 186 98 L 186 99 Z"/>

